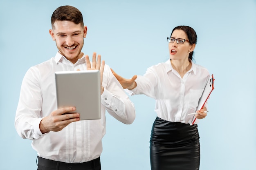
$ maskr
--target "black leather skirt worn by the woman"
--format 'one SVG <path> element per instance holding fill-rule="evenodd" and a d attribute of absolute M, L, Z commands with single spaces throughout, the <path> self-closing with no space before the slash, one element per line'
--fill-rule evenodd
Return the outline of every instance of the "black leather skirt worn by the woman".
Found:
<path fill-rule="evenodd" d="M 151 131 L 151 170 L 199 170 L 198 126 L 159 117 Z"/>

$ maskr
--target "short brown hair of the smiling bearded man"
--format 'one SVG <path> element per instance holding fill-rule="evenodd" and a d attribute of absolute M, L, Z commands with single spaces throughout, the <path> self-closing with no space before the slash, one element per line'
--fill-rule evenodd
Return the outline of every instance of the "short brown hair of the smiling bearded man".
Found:
<path fill-rule="evenodd" d="M 52 13 L 52 28 L 54 27 L 54 22 L 56 20 L 59 21 L 72 21 L 75 24 L 81 23 L 81 26 L 83 26 L 83 15 L 79 11 L 79 9 L 66 5 L 61 6 L 55 9 L 55 11 Z M 54 29 L 54 28 L 53 28 Z"/>

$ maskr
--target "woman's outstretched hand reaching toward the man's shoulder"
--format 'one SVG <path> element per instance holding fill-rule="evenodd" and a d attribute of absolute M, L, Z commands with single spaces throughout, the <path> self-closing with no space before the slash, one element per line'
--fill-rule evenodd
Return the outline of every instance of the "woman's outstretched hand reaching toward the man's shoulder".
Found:
<path fill-rule="evenodd" d="M 137 83 L 135 82 L 137 75 L 134 75 L 131 79 L 125 79 L 124 77 L 118 75 L 114 70 L 112 70 L 112 68 L 110 69 L 124 89 L 127 88 L 128 90 L 131 90 L 137 86 Z"/>

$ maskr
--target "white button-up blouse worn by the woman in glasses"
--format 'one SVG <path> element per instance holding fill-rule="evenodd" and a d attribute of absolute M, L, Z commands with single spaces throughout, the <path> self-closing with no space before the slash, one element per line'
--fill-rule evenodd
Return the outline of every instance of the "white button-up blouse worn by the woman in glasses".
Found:
<path fill-rule="evenodd" d="M 209 79 L 206 68 L 194 64 L 183 76 L 171 66 L 170 60 L 151 66 L 143 76 L 138 75 L 137 87 L 126 92 L 129 95 L 144 94 L 156 100 L 157 117 L 172 121 L 192 124 L 198 102 Z M 204 105 L 207 108 L 207 104 Z M 198 119 L 194 124 L 198 123 Z"/>

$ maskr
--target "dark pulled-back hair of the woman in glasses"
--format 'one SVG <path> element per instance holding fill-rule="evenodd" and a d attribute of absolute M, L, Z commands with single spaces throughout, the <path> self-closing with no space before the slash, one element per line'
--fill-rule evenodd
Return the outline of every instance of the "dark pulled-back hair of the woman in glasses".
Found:
<path fill-rule="evenodd" d="M 183 26 L 182 25 L 182 26 L 176 26 L 173 29 L 173 31 L 176 30 L 176 29 L 183 30 L 186 33 L 186 35 L 188 36 L 188 39 L 189 39 L 189 44 L 191 44 L 191 45 L 196 44 L 197 35 L 196 35 L 195 30 L 193 28 L 191 28 L 190 26 Z M 171 35 L 173 34 L 173 31 L 172 31 Z M 189 59 L 193 60 L 193 51 L 189 53 Z"/>

